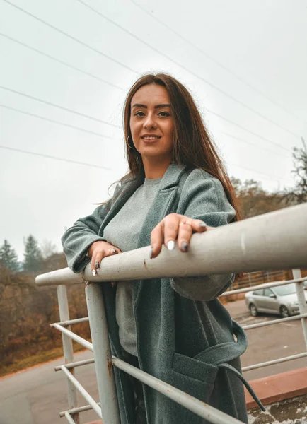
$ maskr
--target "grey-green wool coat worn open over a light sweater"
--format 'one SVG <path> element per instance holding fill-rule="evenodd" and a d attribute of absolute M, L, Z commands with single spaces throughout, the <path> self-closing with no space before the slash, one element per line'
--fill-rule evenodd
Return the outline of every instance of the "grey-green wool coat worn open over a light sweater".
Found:
<path fill-rule="evenodd" d="M 97 240 L 104 240 L 105 226 L 143 182 L 144 179 L 137 178 L 122 183 L 113 196 L 115 201 L 110 199 L 98 206 L 91 216 L 79 219 L 65 232 L 64 252 L 74 272 L 85 268 L 88 247 Z M 212 227 L 224 225 L 234 216 L 219 180 L 203 170 L 189 170 L 175 164 L 170 164 L 161 180 L 154 205 L 141 228 L 138 247 L 150 245 L 151 230 L 168 213 L 198 218 Z M 189 282 L 202 285 L 197 300 L 195 296 L 189 298 L 188 288 L 181 293 L 174 290 L 176 283 L 170 278 L 134 281 L 133 308 L 140 368 L 248 423 L 239 374 L 239 356 L 246 348 L 245 333 L 216 299 L 231 284 L 231 276 L 189 278 Z M 115 317 L 116 286 L 103 283 L 101 287 L 112 354 L 122 358 Z M 236 342 L 233 334 L 236 334 Z M 130 380 L 115 368 L 115 382 L 121 423 L 132 424 L 134 401 Z M 207 423 L 145 385 L 144 401 L 149 424 Z"/>

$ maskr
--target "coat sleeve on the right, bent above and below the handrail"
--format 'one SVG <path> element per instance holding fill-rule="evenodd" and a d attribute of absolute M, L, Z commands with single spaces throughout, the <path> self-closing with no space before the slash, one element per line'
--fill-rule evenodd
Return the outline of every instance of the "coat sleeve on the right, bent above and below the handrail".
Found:
<path fill-rule="evenodd" d="M 226 225 L 236 216 L 221 182 L 202 170 L 194 170 L 187 177 L 180 195 L 178 213 L 203 220 L 210 227 Z M 170 284 L 185 298 L 209 301 L 227 290 L 233 279 L 233 274 L 176 277 L 170 279 Z"/>

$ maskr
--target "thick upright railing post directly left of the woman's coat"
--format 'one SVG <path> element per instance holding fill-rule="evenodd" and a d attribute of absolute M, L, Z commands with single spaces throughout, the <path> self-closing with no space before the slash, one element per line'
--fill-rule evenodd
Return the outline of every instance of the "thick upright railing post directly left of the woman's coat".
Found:
<path fill-rule="evenodd" d="M 103 423 L 120 424 L 101 284 L 103 283 L 86 283 L 86 303 L 91 327 L 100 408 Z"/>

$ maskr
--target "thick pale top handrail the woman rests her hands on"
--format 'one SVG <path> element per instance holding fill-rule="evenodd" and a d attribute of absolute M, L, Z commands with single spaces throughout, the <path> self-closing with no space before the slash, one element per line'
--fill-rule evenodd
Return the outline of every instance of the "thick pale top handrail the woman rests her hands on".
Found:
<path fill-rule="evenodd" d="M 284 228 L 291 228 L 291 237 Z M 150 247 L 106 257 L 98 275 L 88 264 L 85 272 L 69 269 L 37 276 L 37 285 L 58 285 L 86 281 L 122 281 L 174 276 L 203 276 L 259 269 L 304 268 L 307 266 L 307 204 L 222 225 L 192 235 L 189 252 L 165 247 L 149 259 Z"/>

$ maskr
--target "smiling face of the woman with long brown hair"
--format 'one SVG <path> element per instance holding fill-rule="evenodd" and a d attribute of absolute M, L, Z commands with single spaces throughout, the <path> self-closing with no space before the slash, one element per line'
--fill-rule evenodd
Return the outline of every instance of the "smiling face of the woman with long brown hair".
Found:
<path fill-rule="evenodd" d="M 143 159 L 173 159 L 173 116 L 166 88 L 150 84 L 137 90 L 131 100 L 130 131 Z"/>

